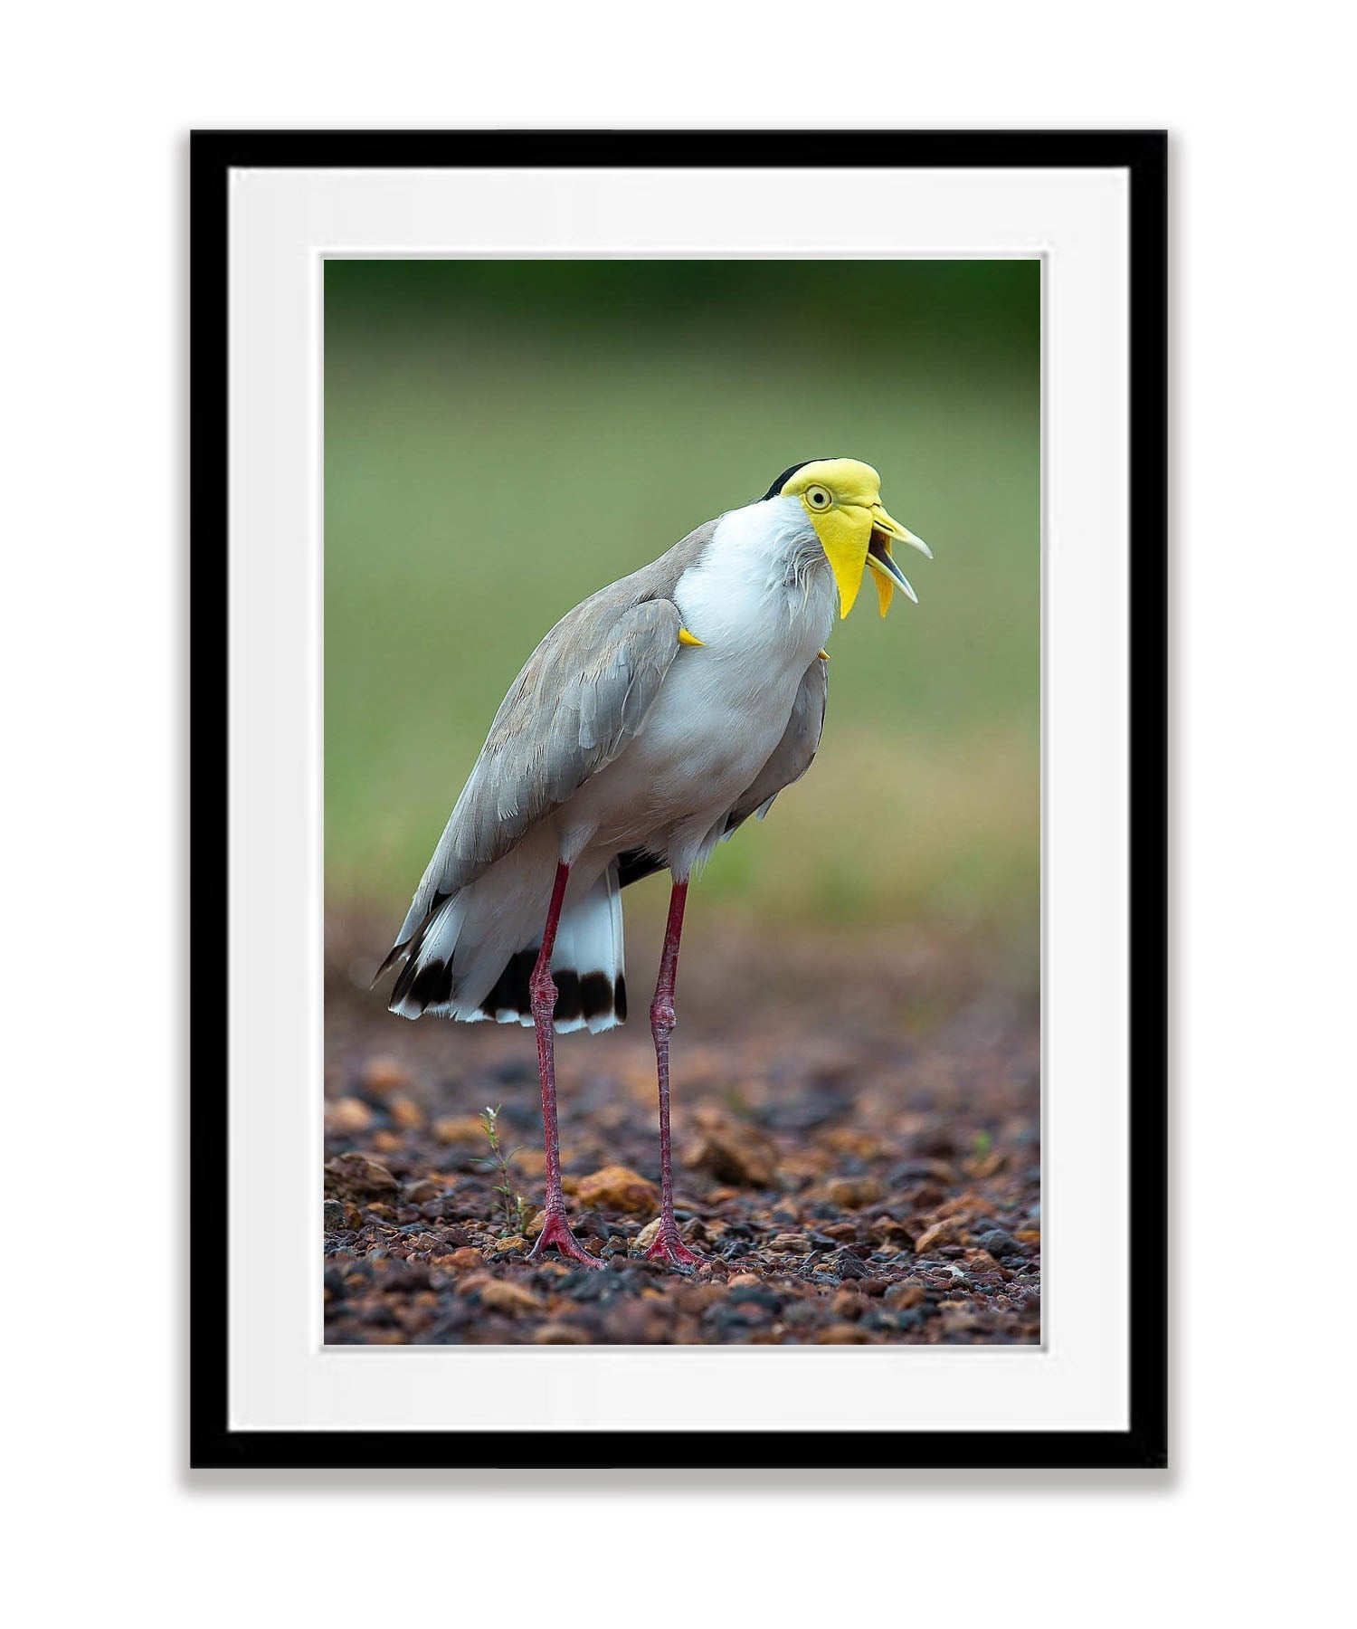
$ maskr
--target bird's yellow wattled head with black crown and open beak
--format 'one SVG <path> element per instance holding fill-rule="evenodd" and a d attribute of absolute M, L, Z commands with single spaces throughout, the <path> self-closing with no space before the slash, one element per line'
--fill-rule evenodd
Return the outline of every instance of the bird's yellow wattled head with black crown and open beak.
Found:
<path fill-rule="evenodd" d="M 933 555 L 922 538 L 891 520 L 881 507 L 881 477 L 872 464 L 860 464 L 855 458 L 816 458 L 808 464 L 793 464 L 782 471 L 764 498 L 792 498 L 806 512 L 839 585 L 842 616 L 852 611 L 868 565 L 881 616 L 889 609 L 896 588 L 917 604 L 919 596 L 909 578 L 891 559 L 891 542 L 907 542 L 930 560 Z"/>

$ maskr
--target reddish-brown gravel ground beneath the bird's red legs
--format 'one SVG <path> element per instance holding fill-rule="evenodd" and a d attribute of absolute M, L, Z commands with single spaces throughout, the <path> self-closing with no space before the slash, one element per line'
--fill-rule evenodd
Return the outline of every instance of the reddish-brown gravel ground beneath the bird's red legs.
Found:
<path fill-rule="evenodd" d="M 1041 1339 L 1036 1007 L 955 945 L 769 945 L 723 924 L 686 946 L 676 1207 L 707 1262 L 683 1276 L 642 1254 L 658 1191 L 643 999 L 621 1031 L 557 1039 L 567 1205 L 608 1271 L 533 1264 L 531 1031 L 389 1016 L 360 989 L 380 940 L 370 922 L 327 933 L 327 1341 Z M 502 1145 L 521 1145 L 507 1196 L 487 1106 Z"/>

